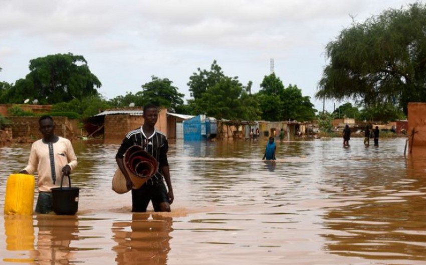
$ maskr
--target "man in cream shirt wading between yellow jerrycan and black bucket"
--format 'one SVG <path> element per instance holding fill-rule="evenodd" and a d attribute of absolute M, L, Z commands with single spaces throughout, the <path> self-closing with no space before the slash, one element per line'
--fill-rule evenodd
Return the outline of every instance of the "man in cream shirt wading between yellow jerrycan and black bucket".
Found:
<path fill-rule="evenodd" d="M 20 173 L 38 172 L 39 197 L 36 212 L 49 213 L 53 203 L 50 189 L 61 185 L 62 176 L 69 175 L 77 166 L 77 157 L 71 141 L 55 135 L 55 124 L 51 116 L 41 116 L 39 126 L 43 138 L 31 146 L 28 165 Z M 64 179 L 63 185 L 69 185 L 68 178 Z"/>

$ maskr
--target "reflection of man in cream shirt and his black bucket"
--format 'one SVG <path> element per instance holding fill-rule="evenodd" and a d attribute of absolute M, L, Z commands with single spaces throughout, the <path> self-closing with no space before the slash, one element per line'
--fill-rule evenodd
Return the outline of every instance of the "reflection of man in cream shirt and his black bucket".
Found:
<path fill-rule="evenodd" d="M 38 264 L 69 264 L 73 259 L 71 241 L 78 239 L 78 218 L 76 215 L 39 214 L 35 219 L 37 234 Z"/>

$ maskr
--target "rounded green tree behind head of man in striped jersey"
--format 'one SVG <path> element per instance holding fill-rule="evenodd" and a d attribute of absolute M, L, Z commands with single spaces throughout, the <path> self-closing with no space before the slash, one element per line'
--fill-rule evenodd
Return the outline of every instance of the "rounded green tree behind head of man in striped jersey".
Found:
<path fill-rule="evenodd" d="M 184 94 L 178 92 L 178 88 L 172 85 L 167 78 L 151 76 L 152 80 L 142 85 L 142 97 L 145 102 L 169 108 L 174 111 L 178 105 L 183 104 Z"/>

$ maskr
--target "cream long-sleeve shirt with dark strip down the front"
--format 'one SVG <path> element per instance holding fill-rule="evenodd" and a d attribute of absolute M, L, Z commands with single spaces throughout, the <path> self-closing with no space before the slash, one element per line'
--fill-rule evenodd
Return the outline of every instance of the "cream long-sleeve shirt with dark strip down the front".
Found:
<path fill-rule="evenodd" d="M 52 187 L 61 186 L 62 167 L 68 164 L 73 170 L 77 166 L 77 156 L 71 141 L 67 138 L 59 137 L 58 141 L 53 143 L 53 152 L 55 160 L 56 181 L 53 184 L 52 171 L 49 156 L 49 144 L 43 142 L 43 139 L 37 140 L 31 146 L 28 165 L 24 168 L 29 174 L 38 172 L 39 191 L 50 191 Z M 65 177 L 63 186 L 69 186 L 68 177 Z"/>

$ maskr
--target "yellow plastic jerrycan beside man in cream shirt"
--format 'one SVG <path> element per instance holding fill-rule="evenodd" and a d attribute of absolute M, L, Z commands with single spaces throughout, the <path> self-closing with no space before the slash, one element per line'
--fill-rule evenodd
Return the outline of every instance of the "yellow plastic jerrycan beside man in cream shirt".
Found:
<path fill-rule="evenodd" d="M 6 184 L 5 214 L 33 214 L 35 177 L 11 174 Z"/>

